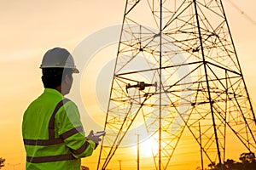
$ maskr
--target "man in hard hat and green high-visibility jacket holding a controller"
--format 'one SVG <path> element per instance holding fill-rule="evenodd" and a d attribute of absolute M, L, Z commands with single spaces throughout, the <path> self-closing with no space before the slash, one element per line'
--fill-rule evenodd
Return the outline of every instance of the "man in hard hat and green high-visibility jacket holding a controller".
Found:
<path fill-rule="evenodd" d="M 84 137 L 77 106 L 64 98 L 79 70 L 64 48 L 49 49 L 40 68 L 44 93 L 28 106 L 22 122 L 26 169 L 79 170 L 80 158 L 90 156 L 101 141 L 92 131 Z"/>

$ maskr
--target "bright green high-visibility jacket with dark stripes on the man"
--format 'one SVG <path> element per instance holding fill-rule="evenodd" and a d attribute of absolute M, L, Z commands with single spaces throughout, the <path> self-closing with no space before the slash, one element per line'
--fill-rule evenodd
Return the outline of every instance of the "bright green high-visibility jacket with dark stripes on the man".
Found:
<path fill-rule="evenodd" d="M 22 136 L 27 170 L 79 170 L 96 147 L 85 139 L 77 106 L 51 88 L 26 109 Z"/>

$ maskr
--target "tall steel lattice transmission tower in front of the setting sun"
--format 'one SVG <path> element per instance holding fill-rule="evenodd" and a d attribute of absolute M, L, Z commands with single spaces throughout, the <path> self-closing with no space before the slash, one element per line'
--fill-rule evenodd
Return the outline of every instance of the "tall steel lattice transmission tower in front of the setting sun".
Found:
<path fill-rule="evenodd" d="M 198 143 L 202 166 L 223 163 L 233 138 L 256 150 L 256 119 L 221 0 L 126 1 L 98 169 L 138 115 L 159 144 L 156 169 L 167 168 L 182 135 Z"/>

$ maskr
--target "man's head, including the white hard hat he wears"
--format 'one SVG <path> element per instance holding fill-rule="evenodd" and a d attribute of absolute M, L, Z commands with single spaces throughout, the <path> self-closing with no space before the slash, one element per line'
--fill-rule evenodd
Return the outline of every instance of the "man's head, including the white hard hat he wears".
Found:
<path fill-rule="evenodd" d="M 68 94 L 73 83 L 73 73 L 79 73 L 73 56 L 64 48 L 49 49 L 40 68 L 43 71 L 44 88 L 55 88 L 61 94 Z"/>

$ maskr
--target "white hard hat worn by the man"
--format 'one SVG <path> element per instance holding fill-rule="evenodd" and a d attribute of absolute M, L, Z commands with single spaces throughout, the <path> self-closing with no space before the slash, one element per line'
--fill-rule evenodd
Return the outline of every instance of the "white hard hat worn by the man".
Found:
<path fill-rule="evenodd" d="M 79 73 L 76 65 L 74 65 L 72 54 L 70 54 L 65 48 L 49 49 L 44 54 L 40 68 L 68 68 L 73 69 L 73 73 Z"/>

